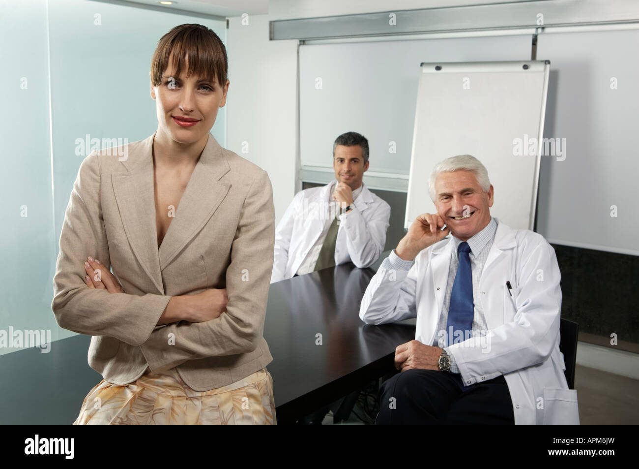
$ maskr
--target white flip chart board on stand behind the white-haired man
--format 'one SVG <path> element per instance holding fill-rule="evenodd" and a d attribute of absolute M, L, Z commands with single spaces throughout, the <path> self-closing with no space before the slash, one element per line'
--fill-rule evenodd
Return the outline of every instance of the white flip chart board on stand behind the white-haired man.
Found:
<path fill-rule="evenodd" d="M 422 63 L 404 228 L 436 211 L 428 179 L 447 157 L 479 159 L 495 188 L 491 216 L 534 227 L 549 61 Z"/>

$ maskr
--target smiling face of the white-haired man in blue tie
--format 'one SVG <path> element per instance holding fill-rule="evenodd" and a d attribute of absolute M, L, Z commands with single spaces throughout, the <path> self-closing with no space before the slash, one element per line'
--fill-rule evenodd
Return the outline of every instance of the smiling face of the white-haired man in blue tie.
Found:
<path fill-rule="evenodd" d="M 435 180 L 435 207 L 450 233 L 468 241 L 486 228 L 493 206 L 493 186 L 484 192 L 470 171 L 441 173 Z"/>

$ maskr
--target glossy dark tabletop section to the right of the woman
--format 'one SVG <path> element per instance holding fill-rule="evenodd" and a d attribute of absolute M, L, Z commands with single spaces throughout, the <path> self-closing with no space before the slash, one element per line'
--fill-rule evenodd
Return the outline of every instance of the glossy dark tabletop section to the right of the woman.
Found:
<path fill-rule="evenodd" d="M 386 255 L 373 268 L 348 263 L 271 285 L 264 337 L 278 423 L 392 372 L 396 347 L 415 338 L 414 320 L 369 326 L 359 319 L 362 296 Z"/>

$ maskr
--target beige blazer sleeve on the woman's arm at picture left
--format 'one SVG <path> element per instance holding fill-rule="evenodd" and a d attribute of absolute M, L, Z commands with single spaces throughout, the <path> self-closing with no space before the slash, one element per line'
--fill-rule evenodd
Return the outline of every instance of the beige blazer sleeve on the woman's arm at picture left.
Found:
<path fill-rule="evenodd" d="M 142 344 L 158 326 L 171 296 L 109 293 L 84 283 L 90 255 L 109 269 L 109 245 L 100 206 L 100 156 L 82 161 L 73 183 L 60 234 L 51 308 L 61 328 L 88 335 L 107 335 L 127 344 Z"/>

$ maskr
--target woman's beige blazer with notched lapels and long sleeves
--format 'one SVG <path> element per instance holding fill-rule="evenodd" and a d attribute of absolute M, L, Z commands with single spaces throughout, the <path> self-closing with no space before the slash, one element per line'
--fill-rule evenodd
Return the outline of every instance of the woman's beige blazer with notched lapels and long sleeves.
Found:
<path fill-rule="evenodd" d="M 93 336 L 89 365 L 107 381 L 125 385 L 147 367 L 177 367 L 187 385 L 206 391 L 273 359 L 262 336 L 273 191 L 266 171 L 209 134 L 158 250 L 153 136 L 82 161 L 60 235 L 51 308 L 61 328 Z M 126 293 L 86 286 L 89 255 L 112 267 Z M 209 288 L 227 289 L 220 317 L 156 326 L 171 296 Z"/>

